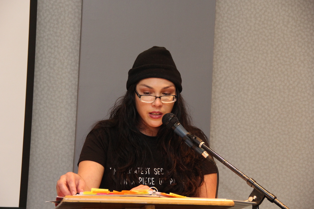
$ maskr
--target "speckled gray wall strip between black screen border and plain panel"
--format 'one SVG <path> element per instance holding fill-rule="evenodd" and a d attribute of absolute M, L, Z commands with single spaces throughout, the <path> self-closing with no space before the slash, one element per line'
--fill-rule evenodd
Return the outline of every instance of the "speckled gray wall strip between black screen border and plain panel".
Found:
<path fill-rule="evenodd" d="M 54 208 L 73 169 L 81 1 L 38 1 L 27 208 Z"/>

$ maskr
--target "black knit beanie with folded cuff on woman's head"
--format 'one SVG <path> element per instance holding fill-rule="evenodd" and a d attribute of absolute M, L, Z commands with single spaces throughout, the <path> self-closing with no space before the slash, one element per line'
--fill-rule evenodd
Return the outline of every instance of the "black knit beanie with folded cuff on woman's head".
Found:
<path fill-rule="evenodd" d="M 128 75 L 127 89 L 145 78 L 164 78 L 174 83 L 179 92 L 182 91 L 181 75 L 165 47 L 153 46 L 139 54 Z"/>

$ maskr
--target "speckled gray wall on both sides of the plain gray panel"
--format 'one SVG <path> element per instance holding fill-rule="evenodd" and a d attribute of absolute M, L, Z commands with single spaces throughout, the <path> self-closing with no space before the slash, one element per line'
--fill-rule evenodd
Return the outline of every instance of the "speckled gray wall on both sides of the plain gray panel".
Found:
<path fill-rule="evenodd" d="M 73 169 L 81 1 L 38 0 L 27 208 Z M 211 145 L 290 208 L 313 207 L 314 1 L 216 2 Z M 252 191 L 219 166 L 219 197 Z M 279 208 L 264 200 L 260 208 Z"/>

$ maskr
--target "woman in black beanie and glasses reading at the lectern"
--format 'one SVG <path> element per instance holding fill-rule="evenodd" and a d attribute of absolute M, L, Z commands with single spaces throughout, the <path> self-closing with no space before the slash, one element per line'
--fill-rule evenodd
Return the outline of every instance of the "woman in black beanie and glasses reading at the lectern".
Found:
<path fill-rule="evenodd" d="M 191 125 L 181 91 L 181 75 L 168 50 L 154 46 L 139 54 L 128 73 L 127 93 L 111 109 L 110 118 L 92 128 L 78 174 L 62 175 L 57 195 L 154 186 L 166 193 L 215 198 L 216 167 L 162 124 L 163 115 L 173 112 L 183 127 L 207 141 Z"/>

